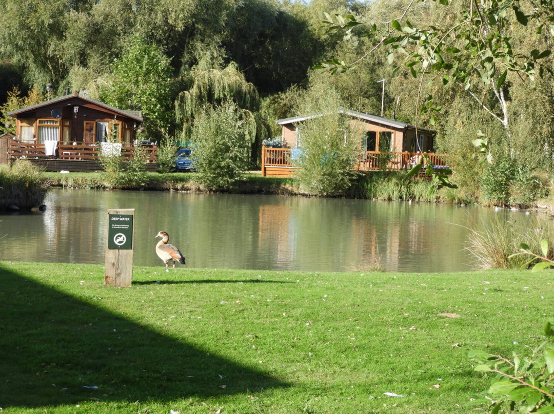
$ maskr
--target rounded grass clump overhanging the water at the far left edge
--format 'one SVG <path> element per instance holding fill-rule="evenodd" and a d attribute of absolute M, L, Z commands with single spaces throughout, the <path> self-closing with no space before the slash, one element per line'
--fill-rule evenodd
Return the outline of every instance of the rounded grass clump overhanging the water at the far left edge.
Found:
<path fill-rule="evenodd" d="M 30 210 L 43 204 L 49 181 L 42 171 L 24 159 L 0 165 L 0 210 L 17 206 Z"/>

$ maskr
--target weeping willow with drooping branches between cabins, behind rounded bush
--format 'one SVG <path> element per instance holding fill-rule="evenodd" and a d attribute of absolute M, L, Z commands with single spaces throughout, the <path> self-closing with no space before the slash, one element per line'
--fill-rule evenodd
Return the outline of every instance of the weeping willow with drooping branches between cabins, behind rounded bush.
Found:
<path fill-rule="evenodd" d="M 175 101 L 177 123 L 181 127 L 181 140 L 191 139 L 194 123 L 206 107 L 216 108 L 231 101 L 239 110 L 248 111 L 255 120 L 255 138 L 251 156 L 257 161 L 261 152 L 261 141 L 268 135 L 268 126 L 260 114 L 261 100 L 256 87 L 247 82 L 234 63 L 223 69 L 194 68 L 186 77 L 186 89 Z"/>

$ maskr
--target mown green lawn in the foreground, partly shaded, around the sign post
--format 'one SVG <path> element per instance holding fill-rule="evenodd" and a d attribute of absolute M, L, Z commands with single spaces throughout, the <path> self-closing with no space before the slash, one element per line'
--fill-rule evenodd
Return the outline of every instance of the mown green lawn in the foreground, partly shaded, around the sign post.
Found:
<path fill-rule="evenodd" d="M 0 407 L 17 413 L 473 412 L 489 381 L 468 351 L 525 353 L 554 301 L 551 272 L 0 272 Z"/>

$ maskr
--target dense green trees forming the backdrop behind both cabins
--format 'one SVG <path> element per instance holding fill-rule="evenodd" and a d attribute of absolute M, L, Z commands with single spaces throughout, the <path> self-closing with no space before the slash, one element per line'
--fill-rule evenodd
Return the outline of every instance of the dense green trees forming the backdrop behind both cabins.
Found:
<path fill-rule="evenodd" d="M 6 112 L 34 103 L 13 87 L 88 90 L 142 111 L 148 136 L 168 142 L 230 99 L 253 115 L 259 162 L 275 120 L 302 115 L 325 84 L 352 110 L 437 130 L 464 197 L 527 204 L 548 189 L 550 0 L 0 0 L 0 11 L 3 131 Z"/>

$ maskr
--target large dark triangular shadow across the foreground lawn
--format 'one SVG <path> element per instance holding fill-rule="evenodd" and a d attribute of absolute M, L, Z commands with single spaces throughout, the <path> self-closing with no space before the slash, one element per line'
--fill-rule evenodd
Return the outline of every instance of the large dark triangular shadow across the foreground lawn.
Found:
<path fill-rule="evenodd" d="M 163 402 L 288 386 L 1 265 L 0 275 L 4 410 L 91 399 Z"/>

